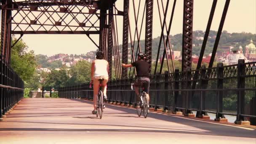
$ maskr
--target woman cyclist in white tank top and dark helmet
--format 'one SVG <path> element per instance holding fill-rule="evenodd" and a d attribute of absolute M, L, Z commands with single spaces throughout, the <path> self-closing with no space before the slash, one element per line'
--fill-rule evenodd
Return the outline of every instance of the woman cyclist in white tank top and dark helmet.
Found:
<path fill-rule="evenodd" d="M 103 90 L 104 101 L 107 101 L 107 81 L 109 79 L 108 69 L 109 63 L 104 60 L 104 53 L 102 51 L 98 51 L 96 53 L 96 60 L 91 64 L 91 82 L 93 83 L 93 115 L 96 115 L 97 113 L 96 104 L 100 84 L 99 79 L 103 79 L 101 89 Z"/>

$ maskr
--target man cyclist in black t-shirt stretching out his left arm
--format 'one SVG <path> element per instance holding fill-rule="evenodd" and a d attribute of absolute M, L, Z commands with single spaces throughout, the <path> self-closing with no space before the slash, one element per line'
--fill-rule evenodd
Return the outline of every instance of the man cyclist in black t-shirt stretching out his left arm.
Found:
<path fill-rule="evenodd" d="M 139 53 L 138 54 L 138 60 L 134 61 L 131 64 L 122 64 L 122 67 L 135 67 L 136 68 L 136 79 L 134 82 L 134 90 L 136 93 L 136 102 L 137 104 L 140 101 L 140 93 L 139 93 L 139 87 L 141 87 L 141 83 L 144 82 L 145 89 L 144 91 L 147 93 L 147 101 L 148 101 L 148 106 L 149 106 L 149 84 L 150 84 L 150 79 L 149 79 L 149 63 L 145 61 L 146 55 L 144 53 Z"/>

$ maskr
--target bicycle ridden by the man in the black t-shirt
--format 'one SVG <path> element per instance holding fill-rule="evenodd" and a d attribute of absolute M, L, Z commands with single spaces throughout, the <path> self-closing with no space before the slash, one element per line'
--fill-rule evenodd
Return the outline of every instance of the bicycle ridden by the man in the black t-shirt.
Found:
<path fill-rule="evenodd" d="M 145 118 L 147 118 L 147 115 L 148 115 L 148 103 L 147 103 L 147 93 L 144 91 L 144 83 L 145 82 L 142 82 L 142 86 L 141 86 L 141 89 L 142 89 L 142 92 L 141 92 L 141 95 L 140 95 L 140 101 L 139 101 L 139 106 L 136 105 L 136 110 L 137 110 L 137 114 L 138 116 L 140 117 L 141 116 L 141 112 L 143 111 L 143 115 Z M 133 83 L 131 84 L 131 89 L 133 89 Z"/>

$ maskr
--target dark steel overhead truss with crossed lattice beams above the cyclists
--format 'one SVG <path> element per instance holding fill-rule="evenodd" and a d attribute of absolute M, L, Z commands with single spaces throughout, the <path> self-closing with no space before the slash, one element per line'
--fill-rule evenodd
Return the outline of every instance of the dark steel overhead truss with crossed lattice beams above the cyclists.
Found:
<path fill-rule="evenodd" d="M 167 64 L 168 72 L 171 73 L 175 71 L 174 58 L 172 55 L 170 58 L 167 52 L 172 51 L 171 25 L 176 3 L 180 2 L 184 5 L 182 71 L 187 71 L 192 65 L 194 0 L 2 0 L 2 59 L 7 63 L 11 59 L 11 47 L 16 44 L 14 42 L 11 45 L 12 34 L 20 35 L 19 39 L 26 34 L 82 34 L 87 35 L 96 47 L 105 53 L 104 58 L 109 62 L 110 77 L 112 77 L 112 66 L 116 79 L 134 77 L 135 70 L 122 68 L 121 63 L 136 61 L 139 52 L 147 54 L 146 60 L 150 66 L 154 60 L 155 69 L 152 69 L 152 72 L 150 69 L 150 74 L 162 74 L 164 64 Z M 201 67 L 216 2 L 217 0 L 213 0 L 197 69 Z M 230 0 L 226 0 L 210 67 L 219 44 L 229 2 Z M 153 11 L 154 5 L 157 7 Z M 159 16 L 159 19 L 154 21 L 160 22 L 160 27 L 153 26 L 154 14 Z M 123 23 L 122 29 L 118 29 L 120 25 L 117 27 L 117 18 L 120 17 L 118 21 Z M 152 58 L 152 34 L 156 30 L 161 30 L 161 35 L 157 57 Z M 95 40 L 90 35 L 99 35 L 99 40 Z M 144 45 L 141 45 L 142 43 Z"/>

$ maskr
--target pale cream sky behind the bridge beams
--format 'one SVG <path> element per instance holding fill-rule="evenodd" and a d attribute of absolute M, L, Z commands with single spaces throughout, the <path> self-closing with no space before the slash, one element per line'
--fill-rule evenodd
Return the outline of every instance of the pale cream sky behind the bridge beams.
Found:
<path fill-rule="evenodd" d="M 135 0 L 135 8 L 138 11 L 139 0 Z M 142 2 L 144 0 L 141 0 Z M 171 9 L 174 0 L 170 0 L 167 23 L 171 17 Z M 160 1 L 159 1 L 160 2 Z M 166 0 L 163 0 L 166 3 Z M 208 22 L 211 5 L 213 0 L 194 0 L 194 12 L 193 12 L 193 30 L 205 31 Z M 216 10 L 213 17 L 213 23 L 211 30 L 218 30 L 219 23 L 224 8 L 225 0 L 218 0 Z M 140 6 L 140 15 L 138 17 L 138 27 L 140 29 L 144 4 Z M 165 5 L 165 4 L 164 4 Z M 123 11 L 123 0 L 117 0 L 116 7 L 118 10 Z M 130 21 L 132 39 L 135 31 L 134 13 L 132 11 L 133 3 L 130 0 Z M 157 8 L 157 0 L 154 0 L 153 8 L 153 35 L 152 37 L 160 36 L 160 16 Z M 161 15 L 163 19 L 163 14 Z M 171 35 L 182 33 L 182 20 L 183 20 L 183 0 L 177 0 L 176 8 L 173 17 L 173 23 L 171 27 Z M 122 29 L 123 18 L 117 16 L 117 31 L 119 44 L 122 42 Z M 223 30 L 228 32 L 251 32 L 256 34 L 256 0 L 231 0 L 227 17 L 224 23 Z M 144 39 L 145 23 L 142 24 L 141 39 Z M 19 35 L 15 35 L 19 37 Z M 99 42 L 99 35 L 92 35 L 92 38 Z M 35 51 L 35 54 L 44 54 L 51 56 L 57 53 L 66 54 L 81 54 L 89 51 L 95 51 L 97 48 L 88 39 L 86 35 L 24 35 L 23 41 L 28 45 L 29 50 Z M 130 42 L 130 40 L 129 40 Z"/>

